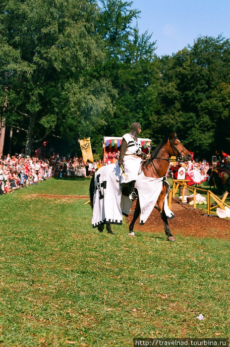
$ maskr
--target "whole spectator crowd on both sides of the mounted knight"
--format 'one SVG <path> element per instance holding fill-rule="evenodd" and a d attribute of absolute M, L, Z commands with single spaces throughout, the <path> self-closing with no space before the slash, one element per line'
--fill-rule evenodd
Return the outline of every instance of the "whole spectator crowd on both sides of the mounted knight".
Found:
<path fill-rule="evenodd" d="M 106 164 L 110 164 L 118 159 L 119 152 L 106 153 Z M 24 157 L 15 155 L 3 156 L 0 159 L 0 194 L 10 193 L 15 189 L 37 184 L 39 181 L 50 177 L 88 177 L 98 170 L 100 163 L 84 163 L 82 158 L 59 157 L 54 155 L 49 159 L 37 157 Z M 219 176 L 223 179 L 223 184 L 230 184 L 230 163 L 225 160 L 218 163 L 208 163 L 203 161 L 190 161 L 188 163 L 175 162 L 170 164 L 168 175 L 177 178 L 178 170 L 183 166 L 186 169 L 185 179 L 188 185 L 200 185 L 210 178 L 210 169 L 218 170 Z M 212 171 L 211 170 L 211 171 Z M 223 174 L 225 173 L 225 174 Z"/>

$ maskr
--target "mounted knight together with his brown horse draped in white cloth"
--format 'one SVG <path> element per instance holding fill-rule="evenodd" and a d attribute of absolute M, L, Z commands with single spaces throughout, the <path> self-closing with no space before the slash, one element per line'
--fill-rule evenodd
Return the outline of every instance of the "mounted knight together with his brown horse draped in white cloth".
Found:
<path fill-rule="evenodd" d="M 136 128 L 136 139 L 134 139 L 130 133 L 128 134 L 130 137 L 127 140 L 125 139 L 126 134 L 123 136 L 124 141 L 127 143 L 127 148 L 124 152 L 122 150 L 120 161 L 121 166 L 123 166 L 123 164 L 125 165 L 125 169 L 123 168 L 124 173 L 129 175 L 129 164 L 130 167 L 132 164 L 128 163 L 129 159 L 126 158 L 135 158 L 138 160 L 138 162 L 136 160 L 135 162 L 133 161 L 135 165 L 133 163 L 131 169 L 133 171 L 135 170 L 135 176 L 130 174 L 126 179 L 126 174 L 121 174 L 121 176 L 124 176 L 125 183 L 135 182 L 136 180 L 135 189 L 137 189 L 138 192 L 137 203 L 135 205 L 132 222 L 129 225 L 128 235 L 135 236 L 133 228 L 137 218 L 140 217 L 140 225 L 144 225 L 157 203 L 168 240 L 175 241 L 168 225 L 168 220 L 172 219 L 174 214 L 168 206 L 167 197 L 170 185 L 166 180 L 166 173 L 169 169 L 170 158 L 172 156 L 175 156 L 177 161 L 189 161 L 191 160 L 191 154 L 179 141 L 176 133 L 173 132 L 170 137 L 165 138 L 159 143 L 152 152 L 151 158 L 144 161 L 143 165 L 141 165 L 141 150 L 139 145 L 138 147 L 135 145 L 135 142 L 137 142 L 137 144 L 139 142 L 137 135 L 141 130 L 140 124 L 137 124 L 137 127 L 135 123 L 132 124 L 132 129 Z M 129 150 L 131 152 L 132 147 L 136 147 L 136 150 L 130 153 L 131 155 L 125 155 L 129 154 Z M 129 199 L 125 192 L 126 187 L 124 186 L 123 189 L 120 186 L 121 166 L 110 164 L 101 167 L 90 182 L 90 201 L 93 208 L 92 227 L 98 228 L 100 232 L 103 231 L 106 225 L 108 233 L 113 234 L 111 225 L 121 225 L 123 215 L 128 216 L 130 213 L 132 206 L 131 199 Z M 130 186 L 133 187 L 134 182 L 132 182 Z M 133 190 L 130 192 L 130 198 L 133 198 L 132 192 Z"/>

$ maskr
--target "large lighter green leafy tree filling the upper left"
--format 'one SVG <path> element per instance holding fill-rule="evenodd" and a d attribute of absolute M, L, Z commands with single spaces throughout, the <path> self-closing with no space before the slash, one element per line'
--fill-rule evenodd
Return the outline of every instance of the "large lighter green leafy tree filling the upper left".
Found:
<path fill-rule="evenodd" d="M 1 6 L 6 116 L 26 130 L 25 154 L 53 131 L 91 119 L 97 123 L 112 111 L 113 88 L 96 73 L 105 55 L 94 30 L 95 1 L 79 0 L 76 6 L 75 0 L 4 0 Z"/>

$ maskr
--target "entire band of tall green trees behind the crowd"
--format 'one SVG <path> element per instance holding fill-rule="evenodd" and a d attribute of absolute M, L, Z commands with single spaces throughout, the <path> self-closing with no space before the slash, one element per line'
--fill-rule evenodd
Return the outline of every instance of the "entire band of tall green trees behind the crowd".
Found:
<path fill-rule="evenodd" d="M 201 157 L 228 153 L 230 40 L 158 57 L 138 15 L 122 0 L 1 1 L 0 155 L 3 142 L 30 155 L 45 140 L 74 155 L 89 136 L 100 153 L 133 121 L 153 146 L 175 130 Z"/>

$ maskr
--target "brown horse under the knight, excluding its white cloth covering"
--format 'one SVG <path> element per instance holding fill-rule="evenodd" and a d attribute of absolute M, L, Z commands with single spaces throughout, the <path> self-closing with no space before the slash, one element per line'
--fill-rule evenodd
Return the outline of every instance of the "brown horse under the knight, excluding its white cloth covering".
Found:
<path fill-rule="evenodd" d="M 192 157 L 191 154 L 189 153 L 189 151 L 178 140 L 175 132 L 172 133 L 170 138 L 163 140 L 157 146 L 157 148 L 152 153 L 150 159 L 147 159 L 146 161 L 144 161 L 142 163 L 142 173 L 144 174 L 145 177 L 153 177 L 153 178 L 158 178 L 160 180 L 162 177 L 162 181 L 163 181 L 162 189 L 161 189 L 160 195 L 158 196 L 158 199 L 157 199 L 158 209 L 160 211 L 161 218 L 162 218 L 163 223 L 164 223 L 165 233 L 168 237 L 168 240 L 169 241 L 175 241 L 175 238 L 170 231 L 169 224 L 168 224 L 168 217 L 167 217 L 167 215 L 165 213 L 165 209 L 164 209 L 165 197 L 167 196 L 168 191 L 169 191 L 169 186 L 166 183 L 166 177 L 165 176 L 166 176 L 166 173 L 169 169 L 171 156 L 175 156 L 176 161 L 183 161 L 183 162 L 191 160 L 191 157 Z M 112 168 L 112 164 L 109 165 L 108 167 L 111 167 L 111 169 L 106 168 L 106 167 L 101 168 L 100 169 L 101 173 L 103 173 L 103 170 L 107 170 L 109 172 L 114 168 L 114 167 Z M 106 169 L 104 169 L 104 168 L 106 168 Z M 114 175 L 111 175 L 111 176 L 113 179 Z M 99 180 L 98 180 L 98 182 L 99 182 Z M 105 182 L 100 183 L 101 187 L 107 186 L 107 188 L 108 188 L 109 180 L 107 180 L 106 183 L 107 184 L 105 184 Z M 95 187 L 95 184 L 98 184 L 98 183 L 97 183 L 97 181 L 95 181 L 94 178 L 92 178 L 91 184 L 90 184 L 91 206 L 93 206 L 94 193 L 96 192 L 96 189 L 97 189 L 97 187 Z M 116 183 L 112 182 L 111 184 L 115 185 Z M 140 187 L 140 189 L 141 189 L 141 187 Z M 118 189 L 116 189 L 116 192 L 117 192 L 117 194 L 119 194 Z M 123 191 L 122 191 L 122 193 L 123 193 Z M 138 193 L 138 191 L 137 191 L 137 193 Z M 153 192 L 153 194 L 154 194 L 154 192 Z M 104 198 L 104 191 L 103 192 L 100 191 L 100 198 L 102 196 Z M 137 202 L 136 202 L 134 215 L 133 215 L 133 219 L 129 225 L 129 235 L 131 235 L 131 236 L 134 236 L 133 227 L 134 227 L 134 224 L 135 224 L 137 218 L 140 215 L 140 212 L 141 212 L 140 199 L 138 197 Z M 94 212 L 93 212 L 93 214 L 94 214 Z M 98 227 L 98 230 L 102 232 L 104 229 L 104 225 L 106 224 L 106 229 L 107 229 L 108 233 L 113 233 L 113 231 L 111 230 L 111 223 L 121 224 L 121 221 L 111 222 L 110 219 L 108 220 L 105 218 L 104 220 L 101 220 L 101 222 L 99 222 L 97 225 L 93 225 L 93 227 Z"/>

